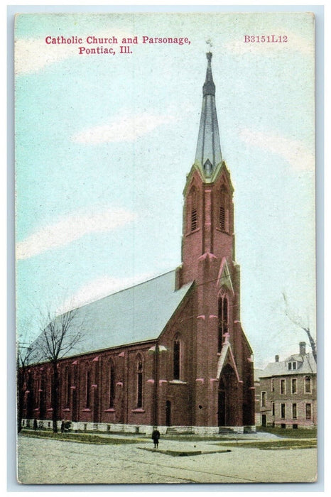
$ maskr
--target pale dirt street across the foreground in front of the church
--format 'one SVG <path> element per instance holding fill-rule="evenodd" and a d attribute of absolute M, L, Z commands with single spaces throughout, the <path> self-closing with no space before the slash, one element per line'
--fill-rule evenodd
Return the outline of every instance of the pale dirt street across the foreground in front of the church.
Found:
<path fill-rule="evenodd" d="M 222 449 L 204 441 L 160 443 L 163 451 Z M 23 484 L 311 482 L 315 477 L 316 449 L 234 446 L 231 452 L 173 457 L 154 452 L 152 441 L 95 445 L 18 437 L 18 480 Z"/>

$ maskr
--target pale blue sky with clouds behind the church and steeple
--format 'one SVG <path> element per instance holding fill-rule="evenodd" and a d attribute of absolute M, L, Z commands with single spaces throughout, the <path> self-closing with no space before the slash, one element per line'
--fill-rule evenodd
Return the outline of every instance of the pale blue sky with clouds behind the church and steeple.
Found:
<path fill-rule="evenodd" d="M 259 33 L 288 43 L 244 43 Z M 46 45 L 46 35 L 191 43 L 78 55 L 77 45 Z M 305 339 L 285 315 L 283 291 L 315 332 L 313 18 L 303 13 L 16 19 L 19 326 L 36 333 L 45 302 L 93 300 L 180 264 L 206 40 L 256 366 Z"/>

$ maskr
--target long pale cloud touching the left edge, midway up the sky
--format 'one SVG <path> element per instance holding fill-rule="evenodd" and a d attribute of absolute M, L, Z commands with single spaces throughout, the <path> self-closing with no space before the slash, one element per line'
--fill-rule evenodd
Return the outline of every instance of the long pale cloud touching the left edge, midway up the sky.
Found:
<path fill-rule="evenodd" d="M 16 245 L 16 258 L 26 259 L 39 253 L 66 246 L 89 233 L 111 231 L 131 222 L 135 214 L 123 209 L 77 212 L 28 236 Z"/>

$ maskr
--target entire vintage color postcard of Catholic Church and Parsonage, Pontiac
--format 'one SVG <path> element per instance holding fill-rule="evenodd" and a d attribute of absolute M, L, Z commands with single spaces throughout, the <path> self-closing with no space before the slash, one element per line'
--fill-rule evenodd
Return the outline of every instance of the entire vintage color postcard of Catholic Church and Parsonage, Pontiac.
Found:
<path fill-rule="evenodd" d="M 18 13 L 17 478 L 317 481 L 313 13 Z"/>

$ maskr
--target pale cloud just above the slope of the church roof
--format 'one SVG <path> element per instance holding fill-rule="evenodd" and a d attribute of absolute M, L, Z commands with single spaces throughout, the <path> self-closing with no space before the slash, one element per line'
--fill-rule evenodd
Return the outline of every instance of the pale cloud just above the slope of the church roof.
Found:
<path fill-rule="evenodd" d="M 65 300 L 63 305 L 56 310 L 56 314 L 62 314 L 70 309 L 81 307 L 89 302 L 94 302 L 95 300 L 107 297 L 107 295 L 119 292 L 119 290 L 138 285 L 139 283 L 143 283 L 143 281 L 153 278 L 153 276 L 155 274 L 144 273 L 131 278 L 111 278 L 109 276 L 97 278 L 83 285 L 77 293 Z"/>

